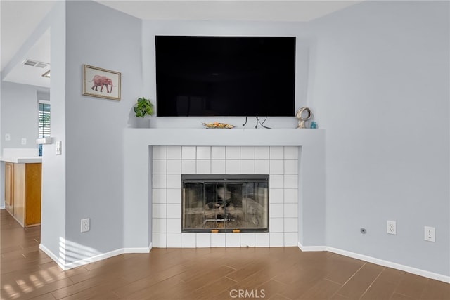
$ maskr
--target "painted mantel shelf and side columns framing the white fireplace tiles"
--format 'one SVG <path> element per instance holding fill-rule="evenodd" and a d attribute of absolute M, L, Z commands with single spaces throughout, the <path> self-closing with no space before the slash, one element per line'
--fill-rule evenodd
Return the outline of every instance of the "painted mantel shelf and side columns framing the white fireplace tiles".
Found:
<path fill-rule="evenodd" d="M 152 247 L 153 146 L 300 147 L 298 242 L 324 245 L 325 133 L 325 129 L 124 129 L 124 247 L 134 252 Z"/>

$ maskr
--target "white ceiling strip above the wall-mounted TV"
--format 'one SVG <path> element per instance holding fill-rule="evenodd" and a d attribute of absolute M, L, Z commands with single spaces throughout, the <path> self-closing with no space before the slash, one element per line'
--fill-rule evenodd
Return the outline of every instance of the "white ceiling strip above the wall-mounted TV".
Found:
<path fill-rule="evenodd" d="M 102 1 L 143 20 L 251 20 L 308 22 L 360 1 Z"/>

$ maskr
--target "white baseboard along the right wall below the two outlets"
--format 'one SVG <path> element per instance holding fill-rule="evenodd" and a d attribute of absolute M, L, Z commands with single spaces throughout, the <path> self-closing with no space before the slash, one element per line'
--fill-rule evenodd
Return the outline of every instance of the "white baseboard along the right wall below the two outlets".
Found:
<path fill-rule="evenodd" d="M 439 281 L 442 281 L 442 282 L 450 283 L 450 276 L 446 276 L 446 275 L 442 275 L 442 274 L 438 274 L 438 273 L 433 273 L 433 272 L 430 272 L 428 270 L 421 270 L 421 269 L 413 268 L 413 267 L 410 267 L 410 266 L 404 266 L 404 265 L 401 265 L 400 263 L 394 263 L 392 261 L 385 261 L 383 259 L 377 259 L 377 258 L 372 257 L 372 256 L 366 256 L 366 255 L 363 255 L 363 254 L 349 252 L 347 250 L 342 250 L 342 249 L 328 247 L 328 246 L 303 246 L 302 244 L 300 244 L 300 242 L 298 243 L 298 247 L 300 248 L 300 250 L 302 250 L 304 252 L 309 252 L 309 251 L 328 251 L 328 252 L 333 252 L 335 254 L 340 254 L 340 255 L 343 255 L 343 256 L 352 257 L 353 259 L 360 259 L 361 261 L 367 261 L 369 263 L 375 263 L 376 265 L 385 266 L 385 267 L 388 267 L 388 268 L 394 268 L 394 269 L 397 269 L 397 270 L 405 271 L 407 273 L 412 273 L 412 274 L 420 275 L 420 276 L 423 276 L 423 277 L 426 277 L 426 278 L 431 278 L 431 279 L 434 279 L 434 280 L 439 280 Z"/>

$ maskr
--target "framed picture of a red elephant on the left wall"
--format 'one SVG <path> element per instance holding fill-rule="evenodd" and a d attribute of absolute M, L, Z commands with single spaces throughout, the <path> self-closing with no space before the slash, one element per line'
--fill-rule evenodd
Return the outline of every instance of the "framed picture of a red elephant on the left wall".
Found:
<path fill-rule="evenodd" d="M 83 95 L 120 100 L 120 73 L 83 65 Z"/>

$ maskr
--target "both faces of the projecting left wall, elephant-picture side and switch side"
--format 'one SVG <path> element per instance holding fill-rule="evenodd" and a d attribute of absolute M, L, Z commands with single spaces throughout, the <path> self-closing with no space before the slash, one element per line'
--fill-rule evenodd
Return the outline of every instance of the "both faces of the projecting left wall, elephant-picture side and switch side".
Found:
<path fill-rule="evenodd" d="M 63 153 L 44 145 L 41 247 L 69 265 L 123 247 L 122 131 L 141 96 L 141 20 L 94 1 L 58 3 L 49 18 L 51 136 Z M 122 100 L 82 96 L 83 64 L 121 72 Z"/>

